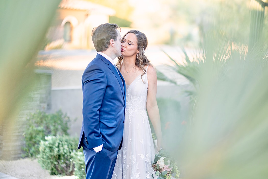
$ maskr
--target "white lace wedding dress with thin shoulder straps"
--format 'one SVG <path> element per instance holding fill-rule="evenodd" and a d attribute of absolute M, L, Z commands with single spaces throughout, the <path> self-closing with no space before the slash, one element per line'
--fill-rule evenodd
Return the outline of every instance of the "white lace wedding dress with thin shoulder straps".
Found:
<path fill-rule="evenodd" d="M 126 85 L 123 146 L 118 151 L 112 179 L 152 178 L 151 163 L 155 150 L 146 112 L 147 73 L 142 78 L 139 75 L 130 85 Z"/>

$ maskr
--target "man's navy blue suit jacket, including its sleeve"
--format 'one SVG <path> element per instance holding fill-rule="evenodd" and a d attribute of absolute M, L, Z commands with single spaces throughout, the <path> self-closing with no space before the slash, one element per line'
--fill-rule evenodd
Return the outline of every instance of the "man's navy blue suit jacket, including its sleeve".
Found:
<path fill-rule="evenodd" d="M 83 123 L 78 149 L 85 138 L 89 149 L 103 144 L 109 151 L 118 150 L 123 137 L 125 89 L 121 73 L 97 54 L 82 76 Z"/>

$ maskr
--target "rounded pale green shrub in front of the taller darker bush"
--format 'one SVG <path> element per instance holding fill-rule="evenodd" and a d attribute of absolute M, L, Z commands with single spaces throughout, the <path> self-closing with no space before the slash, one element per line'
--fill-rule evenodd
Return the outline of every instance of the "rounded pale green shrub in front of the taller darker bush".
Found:
<path fill-rule="evenodd" d="M 69 136 L 46 136 L 40 143 L 38 162 L 51 175 L 73 175 L 72 154 L 76 151 L 77 141 L 77 138 Z"/>

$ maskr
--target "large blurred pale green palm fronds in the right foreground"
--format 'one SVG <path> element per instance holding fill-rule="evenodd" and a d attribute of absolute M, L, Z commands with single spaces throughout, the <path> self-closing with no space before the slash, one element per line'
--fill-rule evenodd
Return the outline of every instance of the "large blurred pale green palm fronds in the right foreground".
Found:
<path fill-rule="evenodd" d="M 268 48 L 250 45 L 212 28 L 193 60 L 185 50 L 184 64 L 170 57 L 168 67 L 194 86 L 191 132 L 173 141 L 183 178 L 267 178 Z"/>

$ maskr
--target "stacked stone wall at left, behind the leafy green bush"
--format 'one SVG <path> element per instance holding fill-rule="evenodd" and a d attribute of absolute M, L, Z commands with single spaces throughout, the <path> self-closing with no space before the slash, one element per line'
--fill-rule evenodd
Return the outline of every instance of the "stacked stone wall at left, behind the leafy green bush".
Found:
<path fill-rule="evenodd" d="M 21 157 L 24 146 L 27 115 L 37 110 L 51 109 L 51 71 L 35 70 L 32 89 L 20 109 L 0 125 L 0 159 L 15 160 Z"/>

